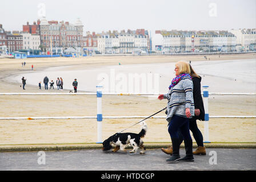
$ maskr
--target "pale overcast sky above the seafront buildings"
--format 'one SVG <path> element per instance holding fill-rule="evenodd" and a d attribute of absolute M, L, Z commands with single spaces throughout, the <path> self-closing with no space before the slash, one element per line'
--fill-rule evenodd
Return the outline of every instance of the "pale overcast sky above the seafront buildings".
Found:
<path fill-rule="evenodd" d="M 45 9 L 44 9 L 45 6 Z M 45 11 L 44 11 L 45 10 Z M 255 0 L 8 0 L 1 1 L 0 24 L 22 30 L 42 15 L 47 20 L 74 23 L 86 31 L 231 30 L 256 27 Z"/>

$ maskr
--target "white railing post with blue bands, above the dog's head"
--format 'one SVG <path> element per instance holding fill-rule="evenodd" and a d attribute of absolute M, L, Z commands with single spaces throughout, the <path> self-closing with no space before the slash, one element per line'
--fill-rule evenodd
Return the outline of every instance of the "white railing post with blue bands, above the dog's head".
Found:
<path fill-rule="evenodd" d="M 97 142 L 102 143 L 102 86 L 97 88 Z"/>

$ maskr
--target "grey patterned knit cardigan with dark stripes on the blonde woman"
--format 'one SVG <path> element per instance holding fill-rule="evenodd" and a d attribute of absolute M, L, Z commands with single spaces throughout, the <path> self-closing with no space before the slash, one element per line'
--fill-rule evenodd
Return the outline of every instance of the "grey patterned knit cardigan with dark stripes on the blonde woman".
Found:
<path fill-rule="evenodd" d="M 163 98 L 168 100 L 166 117 L 168 122 L 174 114 L 186 117 L 186 108 L 190 108 L 190 118 L 194 116 L 193 81 L 190 77 L 183 77 L 167 94 L 163 94 Z"/>

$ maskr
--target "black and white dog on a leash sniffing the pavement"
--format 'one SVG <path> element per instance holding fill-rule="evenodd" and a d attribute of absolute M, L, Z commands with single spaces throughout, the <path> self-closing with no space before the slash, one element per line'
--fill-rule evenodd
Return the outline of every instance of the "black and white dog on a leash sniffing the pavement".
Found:
<path fill-rule="evenodd" d="M 143 146 L 142 139 L 145 137 L 147 132 L 147 125 L 145 122 L 142 122 L 142 129 L 141 132 L 138 134 L 136 133 L 116 133 L 106 139 L 102 144 L 102 150 L 107 151 L 114 146 L 113 152 L 117 152 L 119 149 L 126 152 L 125 148 L 129 145 L 133 147 L 133 150 L 130 151 L 130 153 L 137 152 L 138 148 L 141 148 L 142 151 L 140 154 L 144 154 L 146 148 Z"/>

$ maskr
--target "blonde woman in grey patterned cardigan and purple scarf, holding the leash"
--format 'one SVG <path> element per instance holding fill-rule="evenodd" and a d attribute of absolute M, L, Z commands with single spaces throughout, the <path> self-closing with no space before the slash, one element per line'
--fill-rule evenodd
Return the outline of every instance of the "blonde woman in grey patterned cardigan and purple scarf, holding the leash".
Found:
<path fill-rule="evenodd" d="M 193 142 L 189 131 L 189 119 L 194 116 L 193 81 L 190 76 L 189 63 L 178 61 L 175 64 L 175 78 L 171 81 L 169 92 L 158 96 L 159 100 L 167 98 L 168 131 L 173 146 L 173 155 L 166 162 L 193 162 Z M 179 135 L 181 131 L 185 143 L 186 156 L 179 156 Z"/>

